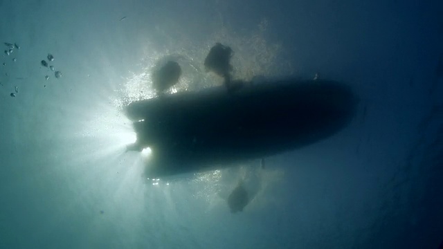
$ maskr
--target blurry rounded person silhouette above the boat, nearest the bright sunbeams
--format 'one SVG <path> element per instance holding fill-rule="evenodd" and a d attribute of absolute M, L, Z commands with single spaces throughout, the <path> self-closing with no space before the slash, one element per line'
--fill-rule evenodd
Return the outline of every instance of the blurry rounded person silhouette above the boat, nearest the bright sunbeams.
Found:
<path fill-rule="evenodd" d="M 171 86 L 174 86 L 174 84 L 179 82 L 180 75 L 181 68 L 177 62 L 166 62 L 161 68 L 152 73 L 152 84 L 154 89 L 159 93 L 170 89 Z"/>

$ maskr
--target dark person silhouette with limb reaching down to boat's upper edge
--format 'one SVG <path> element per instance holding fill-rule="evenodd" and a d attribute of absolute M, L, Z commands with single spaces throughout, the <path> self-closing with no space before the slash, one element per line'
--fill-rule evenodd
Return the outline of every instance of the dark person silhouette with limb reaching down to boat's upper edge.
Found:
<path fill-rule="evenodd" d="M 228 91 L 235 91 L 243 86 L 242 81 L 231 80 L 230 72 L 233 71 L 233 66 L 230 64 L 230 57 L 232 55 L 233 50 L 230 47 L 217 42 L 215 46 L 210 48 L 204 62 L 206 71 L 212 71 L 224 78 L 224 84 Z"/>

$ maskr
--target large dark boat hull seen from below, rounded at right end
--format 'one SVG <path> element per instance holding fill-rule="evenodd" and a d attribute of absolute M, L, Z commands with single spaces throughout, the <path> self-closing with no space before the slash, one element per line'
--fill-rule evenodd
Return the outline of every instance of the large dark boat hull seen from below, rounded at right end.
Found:
<path fill-rule="evenodd" d="M 171 176 L 264 158 L 317 142 L 354 116 L 349 86 L 282 80 L 165 95 L 129 104 L 134 150 L 150 147 L 147 176 Z M 140 121 L 143 120 L 143 121 Z"/>

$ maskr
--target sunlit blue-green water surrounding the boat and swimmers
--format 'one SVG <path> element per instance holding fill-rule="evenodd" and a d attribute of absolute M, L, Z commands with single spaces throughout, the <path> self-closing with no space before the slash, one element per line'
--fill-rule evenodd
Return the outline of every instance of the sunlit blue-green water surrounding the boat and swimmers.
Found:
<path fill-rule="evenodd" d="M 442 17 L 442 1 L 0 0 L 0 248 L 438 248 Z M 318 73 L 359 113 L 266 169 L 147 179 L 121 107 L 152 96 L 164 57 L 174 91 L 221 84 L 215 42 L 237 78 Z M 231 214 L 239 179 L 254 198 Z"/>

